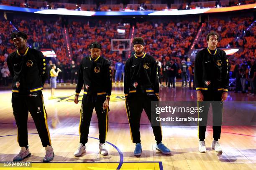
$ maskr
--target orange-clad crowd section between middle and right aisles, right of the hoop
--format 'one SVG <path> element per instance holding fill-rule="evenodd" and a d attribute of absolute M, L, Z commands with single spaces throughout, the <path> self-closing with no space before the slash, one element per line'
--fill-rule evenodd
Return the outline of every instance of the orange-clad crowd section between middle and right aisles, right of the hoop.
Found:
<path fill-rule="evenodd" d="M 176 57 L 180 62 L 182 57 L 187 57 L 199 23 L 183 20 L 168 23 L 137 23 L 136 37 L 143 37 L 147 53 L 159 60 L 169 60 Z"/>

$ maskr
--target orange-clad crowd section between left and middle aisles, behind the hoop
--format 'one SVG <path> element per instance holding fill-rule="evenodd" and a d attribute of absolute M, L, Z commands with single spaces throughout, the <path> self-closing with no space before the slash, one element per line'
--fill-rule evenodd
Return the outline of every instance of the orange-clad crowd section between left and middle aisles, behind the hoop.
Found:
<path fill-rule="evenodd" d="M 117 51 L 111 51 L 111 39 L 117 39 L 119 24 L 101 22 L 90 26 L 87 23 L 72 22 L 68 25 L 69 39 L 72 46 L 73 60 L 80 62 L 82 57 L 89 56 L 88 47 L 91 42 L 97 40 L 102 45 L 102 56 L 108 60 L 118 60 L 121 55 Z M 125 25 L 125 39 L 129 37 L 130 25 Z M 115 63 L 113 63 L 115 64 Z"/>

